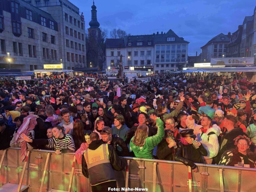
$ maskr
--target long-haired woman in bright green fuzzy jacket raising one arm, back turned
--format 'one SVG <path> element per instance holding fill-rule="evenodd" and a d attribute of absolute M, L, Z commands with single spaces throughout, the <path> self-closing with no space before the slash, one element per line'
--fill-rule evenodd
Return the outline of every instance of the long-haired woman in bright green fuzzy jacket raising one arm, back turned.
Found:
<path fill-rule="evenodd" d="M 156 120 L 157 134 L 148 137 L 148 126 L 139 125 L 130 142 L 130 150 L 134 152 L 135 157 L 153 159 L 153 149 L 160 143 L 164 137 L 164 123 L 158 117 Z"/>

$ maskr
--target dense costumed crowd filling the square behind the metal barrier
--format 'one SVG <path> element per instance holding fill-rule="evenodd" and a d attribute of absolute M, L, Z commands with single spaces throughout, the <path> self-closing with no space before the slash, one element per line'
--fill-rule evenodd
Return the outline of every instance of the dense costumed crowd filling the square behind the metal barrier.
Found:
<path fill-rule="evenodd" d="M 193 172 L 195 163 L 255 168 L 255 88 L 217 73 L 165 73 L 131 83 L 67 74 L 1 78 L 0 149 L 75 152 L 87 167 L 88 150 L 107 146 L 117 170 L 124 168 L 120 156 L 180 161 Z"/>

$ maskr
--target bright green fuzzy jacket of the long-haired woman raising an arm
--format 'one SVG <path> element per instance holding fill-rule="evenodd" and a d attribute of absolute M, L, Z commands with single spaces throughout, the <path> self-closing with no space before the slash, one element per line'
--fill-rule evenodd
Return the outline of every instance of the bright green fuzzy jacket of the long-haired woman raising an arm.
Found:
<path fill-rule="evenodd" d="M 155 146 L 158 145 L 158 143 L 162 141 L 164 137 L 164 123 L 161 119 L 156 120 L 156 126 L 158 128 L 157 134 L 151 137 L 147 137 L 145 144 L 142 147 L 133 144 L 132 140 L 134 136 L 132 137 L 130 141 L 130 151 L 134 152 L 135 157 L 145 158 L 145 159 L 154 159 L 153 149 Z"/>

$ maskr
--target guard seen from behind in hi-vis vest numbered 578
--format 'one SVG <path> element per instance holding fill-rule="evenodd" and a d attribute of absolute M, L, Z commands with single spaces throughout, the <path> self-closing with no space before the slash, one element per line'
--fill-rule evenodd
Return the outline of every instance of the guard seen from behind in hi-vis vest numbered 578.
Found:
<path fill-rule="evenodd" d="M 89 178 L 92 192 L 117 188 L 114 170 L 123 170 L 125 164 L 111 145 L 99 140 L 97 133 L 91 133 L 90 140 L 88 149 L 82 155 L 82 173 Z"/>

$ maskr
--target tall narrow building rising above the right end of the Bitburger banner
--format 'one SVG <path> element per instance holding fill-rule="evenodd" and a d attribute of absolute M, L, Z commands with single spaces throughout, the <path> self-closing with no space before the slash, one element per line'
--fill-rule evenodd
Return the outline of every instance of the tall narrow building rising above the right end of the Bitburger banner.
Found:
<path fill-rule="evenodd" d="M 242 39 L 240 45 L 240 56 L 252 56 L 252 39 L 253 39 L 253 21 L 254 16 L 246 16 L 243 22 Z"/>

